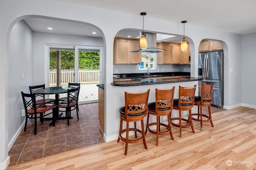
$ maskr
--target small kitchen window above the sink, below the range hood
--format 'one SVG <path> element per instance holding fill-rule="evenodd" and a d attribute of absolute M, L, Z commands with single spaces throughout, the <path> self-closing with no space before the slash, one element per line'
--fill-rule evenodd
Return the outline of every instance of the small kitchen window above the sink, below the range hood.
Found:
<path fill-rule="evenodd" d="M 146 70 L 148 68 L 154 69 L 155 66 L 155 54 L 156 53 L 141 53 L 140 70 Z"/>

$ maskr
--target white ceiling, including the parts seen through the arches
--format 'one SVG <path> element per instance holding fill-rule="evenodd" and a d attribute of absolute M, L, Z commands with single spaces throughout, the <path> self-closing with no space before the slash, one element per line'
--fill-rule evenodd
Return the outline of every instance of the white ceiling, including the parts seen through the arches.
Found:
<path fill-rule="evenodd" d="M 256 32 L 256 0 L 60 0 L 74 4 L 92 6 L 132 15 L 147 12 L 146 17 L 180 23 L 187 20 L 186 25 L 216 29 L 236 34 Z M 211 2 L 211 3 L 209 3 Z M 92 25 L 42 18 L 24 20 L 33 31 L 102 37 Z M 47 30 L 45 27 L 53 27 Z M 84 31 L 86 30 L 86 31 Z M 97 34 L 92 34 L 96 32 Z M 137 31 L 120 31 L 118 37 L 138 36 Z M 180 41 L 183 37 L 176 37 Z M 175 39 L 172 38 L 172 39 Z"/>

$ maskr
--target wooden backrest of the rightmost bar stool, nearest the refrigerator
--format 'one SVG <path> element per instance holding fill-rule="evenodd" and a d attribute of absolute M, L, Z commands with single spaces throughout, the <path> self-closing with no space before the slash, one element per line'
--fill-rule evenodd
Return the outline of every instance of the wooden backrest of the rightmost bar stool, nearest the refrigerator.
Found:
<path fill-rule="evenodd" d="M 201 84 L 201 104 L 211 104 L 212 103 L 212 92 L 214 83 L 211 85 Z"/>

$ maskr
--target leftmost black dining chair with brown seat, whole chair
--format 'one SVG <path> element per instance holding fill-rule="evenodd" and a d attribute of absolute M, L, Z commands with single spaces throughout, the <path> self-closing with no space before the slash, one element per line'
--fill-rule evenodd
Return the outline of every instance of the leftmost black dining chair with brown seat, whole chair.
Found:
<path fill-rule="evenodd" d="M 45 117 L 46 115 L 52 114 L 55 106 L 36 104 L 36 94 L 34 93 L 26 94 L 21 92 L 21 95 L 22 95 L 22 100 L 23 100 L 25 115 L 26 115 L 24 131 L 26 131 L 26 128 L 27 128 L 28 118 L 34 119 L 34 126 L 35 126 L 34 135 L 36 135 L 37 118 L 40 118 L 41 123 L 43 123 L 43 120 L 44 120 L 43 117 Z M 46 113 L 46 111 L 50 111 L 50 110 L 52 110 L 52 112 Z M 39 116 L 37 116 L 37 114 L 39 114 Z"/>

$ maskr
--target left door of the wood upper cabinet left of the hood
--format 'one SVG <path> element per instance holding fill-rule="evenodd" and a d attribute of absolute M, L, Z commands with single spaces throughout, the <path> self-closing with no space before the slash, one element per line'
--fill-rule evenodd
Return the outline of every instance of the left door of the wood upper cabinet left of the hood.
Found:
<path fill-rule="evenodd" d="M 115 64 L 129 64 L 129 43 L 127 39 L 116 39 Z"/>

